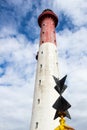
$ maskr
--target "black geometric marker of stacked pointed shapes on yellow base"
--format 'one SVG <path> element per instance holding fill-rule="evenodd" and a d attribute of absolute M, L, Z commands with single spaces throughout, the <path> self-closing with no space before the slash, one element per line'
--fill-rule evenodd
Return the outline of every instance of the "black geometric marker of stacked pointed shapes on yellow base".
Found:
<path fill-rule="evenodd" d="M 58 117 L 67 117 L 71 119 L 71 116 L 68 112 L 68 109 L 71 107 L 71 105 L 62 97 L 62 93 L 67 88 L 67 85 L 65 85 L 67 75 L 65 75 L 62 79 L 58 79 L 55 76 L 53 76 L 56 86 L 54 87 L 55 90 L 60 94 L 59 98 L 56 100 L 56 102 L 53 104 L 53 108 L 56 109 L 56 113 L 54 116 L 54 120 Z"/>

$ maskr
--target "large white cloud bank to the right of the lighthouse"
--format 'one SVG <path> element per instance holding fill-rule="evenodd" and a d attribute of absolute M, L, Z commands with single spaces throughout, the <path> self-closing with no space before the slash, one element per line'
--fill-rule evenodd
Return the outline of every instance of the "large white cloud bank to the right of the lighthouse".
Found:
<path fill-rule="evenodd" d="M 63 30 L 57 34 L 60 77 L 68 74 L 66 82 L 68 88 L 64 96 L 72 105 L 70 108 L 72 120 L 67 120 L 67 123 L 77 130 L 81 130 L 83 124 L 85 128 L 87 127 L 85 124 L 87 118 L 86 34 L 85 27 L 75 32 Z"/>

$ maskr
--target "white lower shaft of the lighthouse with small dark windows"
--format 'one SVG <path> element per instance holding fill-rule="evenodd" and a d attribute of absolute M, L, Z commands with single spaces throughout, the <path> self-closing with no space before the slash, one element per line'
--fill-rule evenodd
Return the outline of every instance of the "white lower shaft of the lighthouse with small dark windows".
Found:
<path fill-rule="evenodd" d="M 53 22 L 52 19 L 51 21 Z M 44 38 L 46 39 L 46 36 Z M 51 40 L 48 37 L 47 42 L 44 42 L 44 38 L 41 38 L 43 43 L 40 39 L 30 130 L 53 130 L 58 125 L 58 122 L 53 120 L 55 110 L 52 108 L 58 98 L 53 79 L 53 75 L 58 77 L 57 47 L 56 42 L 50 42 L 52 37 Z"/>

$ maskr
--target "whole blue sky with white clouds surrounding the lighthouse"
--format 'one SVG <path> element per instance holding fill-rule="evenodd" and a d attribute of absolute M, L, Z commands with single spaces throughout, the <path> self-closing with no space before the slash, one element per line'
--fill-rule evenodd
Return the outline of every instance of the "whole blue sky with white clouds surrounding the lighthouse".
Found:
<path fill-rule="evenodd" d="M 72 104 L 76 130 L 87 128 L 87 0 L 0 0 L 0 129 L 29 130 L 39 47 L 39 14 L 52 9 L 60 77 L 68 74 L 64 93 Z"/>

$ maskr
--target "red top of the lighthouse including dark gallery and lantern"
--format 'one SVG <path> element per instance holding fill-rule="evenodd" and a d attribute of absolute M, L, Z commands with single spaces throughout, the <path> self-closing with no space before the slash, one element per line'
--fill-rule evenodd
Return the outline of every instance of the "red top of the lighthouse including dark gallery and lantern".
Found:
<path fill-rule="evenodd" d="M 41 27 L 40 45 L 46 42 L 51 42 L 56 45 L 55 27 L 58 23 L 58 17 L 50 10 L 46 9 L 38 18 L 38 24 Z"/>

